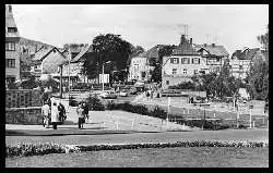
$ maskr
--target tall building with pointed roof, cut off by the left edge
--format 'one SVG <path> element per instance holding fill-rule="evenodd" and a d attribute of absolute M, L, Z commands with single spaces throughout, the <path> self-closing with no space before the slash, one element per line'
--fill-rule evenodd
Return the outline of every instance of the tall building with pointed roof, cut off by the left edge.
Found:
<path fill-rule="evenodd" d="M 5 82 L 20 79 L 20 35 L 12 14 L 12 5 L 5 5 Z"/>

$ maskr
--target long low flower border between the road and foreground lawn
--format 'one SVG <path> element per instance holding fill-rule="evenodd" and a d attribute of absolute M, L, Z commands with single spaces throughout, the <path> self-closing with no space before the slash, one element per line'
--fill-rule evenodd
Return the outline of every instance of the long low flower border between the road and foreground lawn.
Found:
<path fill-rule="evenodd" d="M 139 148 L 170 148 L 170 147 L 269 147 L 264 141 L 236 141 L 236 140 L 193 140 L 177 143 L 155 143 L 155 144 L 132 144 L 132 145 L 58 145 L 58 144 L 20 144 L 15 146 L 5 146 L 5 157 L 27 157 L 43 156 L 49 153 L 69 153 L 82 151 L 98 150 L 120 150 L 120 149 L 139 149 Z"/>

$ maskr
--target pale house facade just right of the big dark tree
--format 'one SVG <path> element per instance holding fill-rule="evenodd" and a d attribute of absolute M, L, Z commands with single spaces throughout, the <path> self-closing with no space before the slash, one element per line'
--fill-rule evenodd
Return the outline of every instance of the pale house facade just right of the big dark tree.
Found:
<path fill-rule="evenodd" d="M 131 60 L 128 79 L 147 81 L 150 78 L 151 70 L 153 70 L 153 67 L 149 65 L 147 58 L 134 57 Z"/>

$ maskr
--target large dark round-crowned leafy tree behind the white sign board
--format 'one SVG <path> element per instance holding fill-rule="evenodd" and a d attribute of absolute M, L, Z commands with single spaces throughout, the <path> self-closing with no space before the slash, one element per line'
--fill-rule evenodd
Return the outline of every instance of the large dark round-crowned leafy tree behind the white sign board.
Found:
<path fill-rule="evenodd" d="M 98 35 L 93 39 L 93 53 L 86 57 L 83 62 L 82 73 L 88 78 L 96 78 L 102 73 L 103 63 L 105 74 L 112 74 L 112 71 L 120 71 L 127 67 L 127 61 L 132 53 L 132 46 L 120 38 L 120 35 L 106 34 Z M 110 81 L 112 76 L 110 75 Z"/>

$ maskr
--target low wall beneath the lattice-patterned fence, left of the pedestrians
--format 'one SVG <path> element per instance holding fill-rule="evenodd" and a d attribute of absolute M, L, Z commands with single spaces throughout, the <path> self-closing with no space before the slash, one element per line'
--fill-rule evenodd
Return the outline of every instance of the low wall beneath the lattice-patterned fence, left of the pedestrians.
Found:
<path fill-rule="evenodd" d="M 5 108 L 5 124 L 43 124 L 41 107 Z"/>

